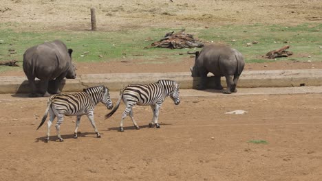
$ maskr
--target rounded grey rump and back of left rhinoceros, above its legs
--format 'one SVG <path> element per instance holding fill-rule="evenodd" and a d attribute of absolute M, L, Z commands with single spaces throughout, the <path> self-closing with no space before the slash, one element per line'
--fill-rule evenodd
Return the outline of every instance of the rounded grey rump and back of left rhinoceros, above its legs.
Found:
<path fill-rule="evenodd" d="M 28 49 L 23 62 L 26 75 L 32 74 L 40 80 L 52 80 L 72 64 L 66 45 L 59 40 Z"/>

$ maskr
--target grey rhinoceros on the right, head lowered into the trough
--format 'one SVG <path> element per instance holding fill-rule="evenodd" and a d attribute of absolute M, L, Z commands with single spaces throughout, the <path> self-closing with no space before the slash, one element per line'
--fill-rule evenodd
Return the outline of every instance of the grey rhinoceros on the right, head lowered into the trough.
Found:
<path fill-rule="evenodd" d="M 220 77 L 225 76 L 227 89 L 223 93 L 236 93 L 239 75 L 244 70 L 244 58 L 239 51 L 222 44 L 207 45 L 195 53 L 195 65 L 190 68 L 191 76 L 200 77 L 197 89 L 206 88 L 209 72 L 215 75 L 215 89 L 222 90 Z"/>

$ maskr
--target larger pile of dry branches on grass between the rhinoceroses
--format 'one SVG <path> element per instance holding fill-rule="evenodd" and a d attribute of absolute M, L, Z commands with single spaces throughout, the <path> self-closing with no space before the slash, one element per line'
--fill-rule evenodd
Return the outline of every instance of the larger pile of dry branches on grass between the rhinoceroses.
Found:
<path fill-rule="evenodd" d="M 184 49 L 193 47 L 204 47 L 204 44 L 195 40 L 192 34 L 185 34 L 184 32 L 174 34 L 174 32 L 169 32 L 160 41 L 152 43 L 149 47 L 145 48 L 152 47 Z"/>

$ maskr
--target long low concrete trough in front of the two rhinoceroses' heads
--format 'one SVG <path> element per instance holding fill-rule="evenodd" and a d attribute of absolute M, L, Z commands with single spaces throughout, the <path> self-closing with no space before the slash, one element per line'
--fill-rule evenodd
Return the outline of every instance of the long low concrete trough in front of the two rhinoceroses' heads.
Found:
<path fill-rule="evenodd" d="M 191 73 L 106 73 L 78 75 L 74 80 L 65 80 L 61 86 L 63 92 L 82 91 L 83 88 L 105 85 L 111 91 L 118 91 L 128 84 L 149 84 L 161 79 L 180 82 L 180 88 L 191 89 L 198 84 L 199 77 Z M 208 88 L 213 88 L 213 77 L 207 80 Z M 222 77 L 222 86 L 226 79 Z M 322 69 L 244 71 L 239 78 L 237 88 L 322 86 Z M 0 93 L 30 93 L 26 77 L 0 77 Z"/>

